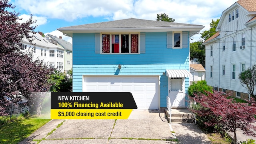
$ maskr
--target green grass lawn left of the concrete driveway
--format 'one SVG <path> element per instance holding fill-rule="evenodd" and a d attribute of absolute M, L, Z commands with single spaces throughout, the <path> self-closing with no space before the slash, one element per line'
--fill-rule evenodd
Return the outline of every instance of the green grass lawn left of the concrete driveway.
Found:
<path fill-rule="evenodd" d="M 10 121 L 10 117 L 0 117 L 0 144 L 18 144 L 30 134 L 49 122 L 50 119 L 18 116 Z"/>

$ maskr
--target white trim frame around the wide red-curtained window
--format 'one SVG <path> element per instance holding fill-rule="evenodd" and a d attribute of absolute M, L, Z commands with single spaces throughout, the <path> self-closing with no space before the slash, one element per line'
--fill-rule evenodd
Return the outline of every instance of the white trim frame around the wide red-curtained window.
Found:
<path fill-rule="evenodd" d="M 109 41 L 112 41 L 112 34 L 119 34 L 119 53 L 112 53 L 112 45 L 110 44 L 110 52 L 103 53 L 102 52 L 102 34 L 109 34 L 110 38 Z M 129 53 L 122 53 L 121 52 L 121 34 L 129 34 Z M 138 53 L 131 53 L 131 34 L 138 34 Z M 119 33 L 100 33 L 100 54 L 140 54 L 140 32 L 119 32 Z"/>

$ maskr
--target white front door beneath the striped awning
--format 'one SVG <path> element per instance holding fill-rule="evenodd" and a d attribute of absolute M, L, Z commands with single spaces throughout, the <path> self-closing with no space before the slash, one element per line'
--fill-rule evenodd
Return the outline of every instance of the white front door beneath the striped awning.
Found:
<path fill-rule="evenodd" d="M 169 79 L 169 97 L 172 107 L 185 106 L 184 78 Z"/>

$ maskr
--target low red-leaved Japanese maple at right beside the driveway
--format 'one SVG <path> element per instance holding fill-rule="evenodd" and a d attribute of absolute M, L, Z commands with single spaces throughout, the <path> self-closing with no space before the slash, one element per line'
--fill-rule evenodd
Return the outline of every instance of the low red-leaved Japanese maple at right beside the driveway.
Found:
<path fill-rule="evenodd" d="M 234 132 L 234 140 L 236 142 L 236 130 L 240 129 L 246 135 L 256 136 L 252 130 L 256 130 L 256 126 L 252 123 L 256 122 L 256 102 L 250 100 L 246 103 L 235 102 L 233 98 L 227 98 L 230 94 L 214 91 L 207 94 L 199 94 L 192 98 L 197 104 L 202 106 L 202 110 L 191 109 L 198 116 L 213 115 L 216 118 L 213 121 L 205 122 L 208 126 L 219 126 L 225 132 Z"/>

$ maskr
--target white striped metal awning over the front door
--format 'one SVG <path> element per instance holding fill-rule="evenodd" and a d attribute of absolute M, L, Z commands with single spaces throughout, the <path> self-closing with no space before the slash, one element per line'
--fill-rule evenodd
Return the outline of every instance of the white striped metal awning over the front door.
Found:
<path fill-rule="evenodd" d="M 192 74 L 188 70 L 166 70 L 166 76 L 169 78 L 190 78 Z"/>

